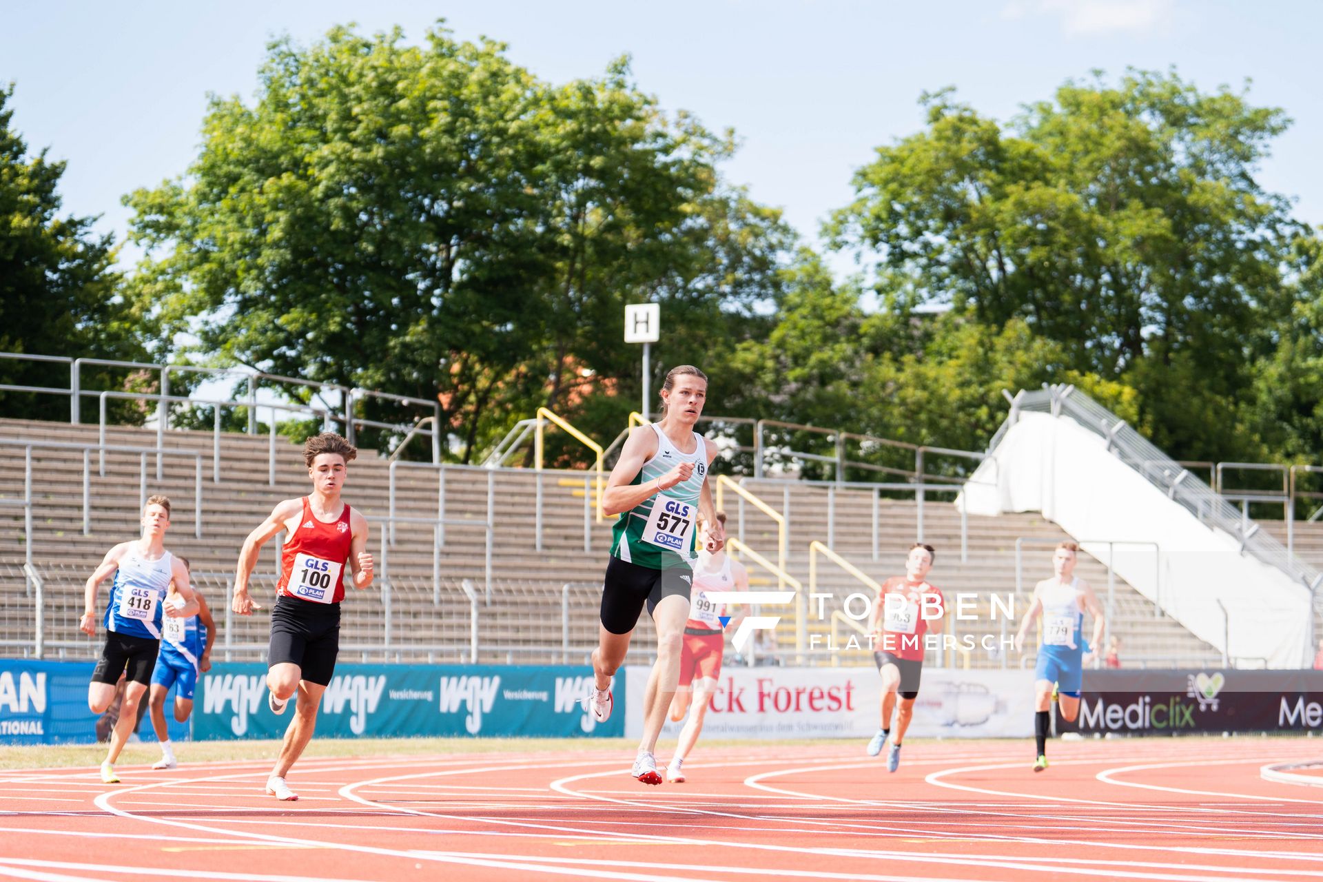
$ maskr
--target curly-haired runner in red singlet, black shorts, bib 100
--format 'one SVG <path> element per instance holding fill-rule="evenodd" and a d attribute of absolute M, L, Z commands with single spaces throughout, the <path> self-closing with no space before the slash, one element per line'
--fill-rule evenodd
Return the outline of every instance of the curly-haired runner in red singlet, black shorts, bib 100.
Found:
<path fill-rule="evenodd" d="M 280 555 L 279 596 L 271 611 L 266 673 L 271 690 L 267 703 L 274 713 L 283 714 L 290 697 L 298 693 L 280 756 L 266 782 L 266 792 L 279 800 L 299 799 L 284 776 L 312 738 L 321 693 L 335 673 L 345 566 L 353 571 L 353 587 L 372 584 L 368 518 L 340 499 L 348 464 L 357 455 L 353 444 L 332 432 L 310 438 L 303 444 L 303 458 L 312 479 L 312 493 L 277 505 L 239 551 L 233 610 L 251 615 L 261 608 L 247 590 L 258 553 L 280 530 L 288 537 Z"/>

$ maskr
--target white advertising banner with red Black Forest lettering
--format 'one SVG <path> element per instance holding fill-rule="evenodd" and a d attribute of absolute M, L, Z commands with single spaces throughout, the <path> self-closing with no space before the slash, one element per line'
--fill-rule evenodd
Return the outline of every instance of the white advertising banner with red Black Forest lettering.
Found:
<path fill-rule="evenodd" d="M 647 668 L 627 668 L 627 705 L 639 707 Z M 708 702 L 705 738 L 863 738 L 877 731 L 881 680 L 875 668 L 744 668 L 721 670 Z M 667 722 L 664 738 L 683 722 Z M 630 714 L 626 735 L 640 737 Z M 1020 670 L 925 669 L 914 701 L 913 738 L 1023 738 L 1033 734 L 1033 682 Z"/>

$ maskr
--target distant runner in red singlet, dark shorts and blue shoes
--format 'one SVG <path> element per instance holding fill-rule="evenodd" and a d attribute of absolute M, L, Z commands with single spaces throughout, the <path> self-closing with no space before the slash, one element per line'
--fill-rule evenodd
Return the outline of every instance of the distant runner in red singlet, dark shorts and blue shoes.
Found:
<path fill-rule="evenodd" d="M 882 583 L 873 600 L 869 629 L 875 635 L 873 660 L 882 676 L 882 723 L 868 742 L 868 755 L 877 756 L 890 739 L 886 770 L 901 764 L 901 742 L 914 715 L 914 700 L 923 674 L 923 636 L 942 629 L 946 606 L 942 592 L 927 583 L 937 553 L 931 545 L 916 542 L 905 558 L 905 577 L 892 577 Z M 900 713 L 892 735 L 892 711 L 900 692 Z"/>

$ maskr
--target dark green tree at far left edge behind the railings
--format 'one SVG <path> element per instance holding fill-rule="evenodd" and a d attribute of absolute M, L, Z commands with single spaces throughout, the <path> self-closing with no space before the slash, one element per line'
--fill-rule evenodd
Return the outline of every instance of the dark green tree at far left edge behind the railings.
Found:
<path fill-rule="evenodd" d="M 0 89 L 0 352 L 143 361 L 151 323 L 120 296 L 112 239 L 93 231 L 97 218 L 60 214 L 65 164 L 28 152 L 12 98 L 13 85 Z M 107 368 L 85 368 L 82 381 L 149 390 Z M 69 368 L 0 358 L 0 383 L 67 389 Z M 0 393 L 0 406 L 7 417 L 69 419 L 67 399 L 54 395 Z M 122 402 L 114 410 L 120 419 L 146 413 Z"/>

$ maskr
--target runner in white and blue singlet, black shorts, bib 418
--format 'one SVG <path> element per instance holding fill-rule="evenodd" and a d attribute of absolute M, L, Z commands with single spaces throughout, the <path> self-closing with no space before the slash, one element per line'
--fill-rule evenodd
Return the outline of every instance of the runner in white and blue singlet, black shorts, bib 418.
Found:
<path fill-rule="evenodd" d="M 119 783 L 115 760 L 138 722 L 138 705 L 147 693 L 147 682 L 156 668 L 163 621 L 197 612 L 188 570 L 165 550 L 169 500 L 164 496 L 148 499 L 143 506 L 142 525 L 143 537 L 134 542 L 120 542 L 107 551 L 87 579 L 83 588 L 83 615 L 78 623 L 78 628 L 87 636 L 97 633 L 97 590 L 114 574 L 110 603 L 102 619 L 106 643 L 87 685 L 87 706 L 94 714 L 103 714 L 115 698 L 119 677 L 127 674 L 119 719 L 110 735 L 110 751 L 101 764 L 101 780 L 107 784 Z M 171 582 L 179 594 L 177 603 L 165 599 Z"/>

